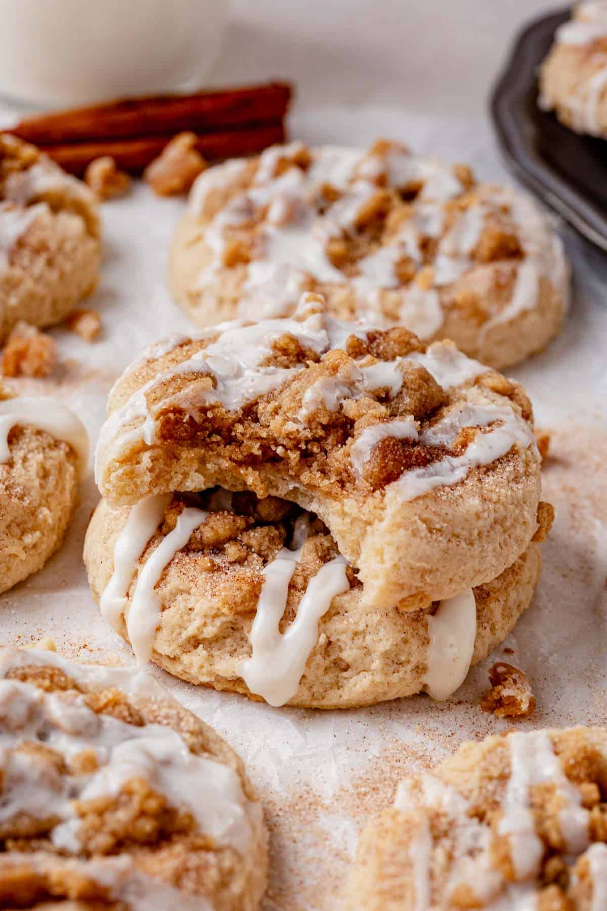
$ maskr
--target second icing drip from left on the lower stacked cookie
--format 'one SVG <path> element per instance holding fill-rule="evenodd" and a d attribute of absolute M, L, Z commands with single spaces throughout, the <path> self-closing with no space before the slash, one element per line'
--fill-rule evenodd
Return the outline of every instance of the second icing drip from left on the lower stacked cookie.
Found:
<path fill-rule="evenodd" d="M 208 513 L 202 509 L 185 508 L 177 518 L 176 527 L 163 537 L 137 577 L 137 585 L 126 618 L 126 632 L 135 652 L 137 664 L 145 664 L 152 657 L 154 637 L 162 609 L 155 591 L 157 583 L 177 552 L 185 548 L 192 532 L 206 521 L 207 515 Z"/>

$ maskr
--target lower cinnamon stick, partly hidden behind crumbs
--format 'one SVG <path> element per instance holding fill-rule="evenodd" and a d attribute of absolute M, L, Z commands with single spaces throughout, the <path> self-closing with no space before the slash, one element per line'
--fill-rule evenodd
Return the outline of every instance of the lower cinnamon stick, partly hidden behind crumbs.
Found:
<path fill-rule="evenodd" d="M 197 130 L 193 132 L 197 133 Z M 109 155 L 120 170 L 140 174 L 150 161 L 157 158 L 171 136 L 142 138 L 97 139 L 72 145 L 58 143 L 40 148 L 50 158 L 71 174 L 80 176 L 91 161 Z M 282 120 L 260 123 L 246 129 L 197 133 L 197 149 L 206 159 L 230 159 L 251 155 L 277 142 L 284 142 L 285 126 Z"/>

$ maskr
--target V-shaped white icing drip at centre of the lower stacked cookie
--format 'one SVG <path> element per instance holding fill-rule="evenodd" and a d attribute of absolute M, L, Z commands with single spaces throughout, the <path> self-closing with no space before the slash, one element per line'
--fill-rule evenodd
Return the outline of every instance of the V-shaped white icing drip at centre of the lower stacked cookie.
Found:
<path fill-rule="evenodd" d="M 274 706 L 284 705 L 298 691 L 311 650 L 319 638 L 319 619 L 331 600 L 349 590 L 347 563 L 336 557 L 309 580 L 297 616 L 284 633 L 278 624 L 287 608 L 288 583 L 301 550 L 282 548 L 263 571 L 264 584 L 250 632 L 252 655 L 238 673 L 248 689 Z"/>

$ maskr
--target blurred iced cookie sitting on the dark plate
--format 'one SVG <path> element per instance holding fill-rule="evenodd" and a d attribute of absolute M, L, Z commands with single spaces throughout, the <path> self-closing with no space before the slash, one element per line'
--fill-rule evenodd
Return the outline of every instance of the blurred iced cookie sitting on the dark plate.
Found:
<path fill-rule="evenodd" d="M 607 136 L 607 3 L 573 7 L 540 70 L 539 104 L 576 133 Z"/>

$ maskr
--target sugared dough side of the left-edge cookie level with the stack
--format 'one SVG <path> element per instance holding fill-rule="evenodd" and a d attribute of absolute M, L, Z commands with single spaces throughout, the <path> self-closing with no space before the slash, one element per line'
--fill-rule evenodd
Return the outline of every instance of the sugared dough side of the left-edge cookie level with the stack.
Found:
<path fill-rule="evenodd" d="M 11 458 L 0 465 L 0 591 L 41 569 L 55 553 L 76 506 L 76 456 L 31 427 L 9 434 Z"/>

